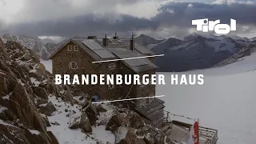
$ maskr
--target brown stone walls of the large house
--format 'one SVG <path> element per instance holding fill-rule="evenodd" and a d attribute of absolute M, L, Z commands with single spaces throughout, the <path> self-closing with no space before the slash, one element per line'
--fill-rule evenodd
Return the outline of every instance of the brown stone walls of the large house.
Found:
<path fill-rule="evenodd" d="M 128 66 L 124 65 L 121 61 L 117 62 L 102 62 L 92 63 L 94 58 L 91 58 L 86 50 L 78 46 L 78 51 L 68 50 L 68 46 L 76 46 L 74 42 L 68 42 L 62 49 L 58 50 L 52 57 L 53 74 L 134 74 Z M 154 62 L 154 58 L 149 58 Z M 77 69 L 71 69 L 70 62 L 77 63 Z M 114 70 L 109 69 L 109 65 L 115 65 Z M 155 70 L 143 72 L 142 74 L 155 74 Z M 140 74 L 140 75 L 142 75 Z M 80 78 L 81 79 L 81 78 Z M 98 82 L 99 83 L 99 82 Z M 155 95 L 155 86 L 132 86 L 122 85 L 109 87 L 107 85 L 78 85 L 70 86 L 71 90 L 75 92 L 84 92 L 90 96 L 98 95 L 101 99 L 119 99 L 119 98 L 137 98 L 148 97 Z"/>

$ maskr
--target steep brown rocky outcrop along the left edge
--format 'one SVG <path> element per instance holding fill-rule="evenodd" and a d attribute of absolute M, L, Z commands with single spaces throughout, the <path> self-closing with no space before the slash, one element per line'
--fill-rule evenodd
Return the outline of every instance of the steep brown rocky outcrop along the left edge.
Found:
<path fill-rule="evenodd" d="M 0 38 L 2 142 L 58 143 L 54 134 L 46 130 L 46 126 L 50 126 L 48 118 L 40 114 L 51 115 L 56 108 L 53 103 L 47 102 L 48 96 L 61 95 L 61 88 L 54 86 L 51 78 L 52 75 L 32 50 L 27 50 L 17 42 L 3 44 Z M 70 99 L 72 101 L 72 97 Z"/>

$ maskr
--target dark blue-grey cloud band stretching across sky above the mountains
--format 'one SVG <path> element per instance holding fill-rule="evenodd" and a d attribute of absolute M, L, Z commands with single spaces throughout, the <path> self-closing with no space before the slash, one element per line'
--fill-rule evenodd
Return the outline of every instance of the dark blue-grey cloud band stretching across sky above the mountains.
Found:
<path fill-rule="evenodd" d="M 96 0 L 100 1 L 100 0 Z M 95 2 L 96 2 L 95 1 Z M 118 1 L 129 4 L 137 2 Z M 102 1 L 101 1 L 102 2 Z M 192 4 L 193 6 L 189 6 Z M 106 5 L 107 6 L 107 5 Z M 174 13 L 170 13 L 173 10 Z M 117 30 L 124 36 L 130 31 L 157 31 L 167 28 L 170 35 L 182 37 L 189 33 L 192 19 L 210 18 L 210 20 L 220 19 L 221 23 L 230 23 L 230 18 L 234 18 L 238 23 L 238 33 L 247 33 L 248 30 L 239 30 L 242 26 L 256 26 L 256 6 L 234 3 L 232 5 L 212 5 L 200 2 L 171 2 L 159 9 L 159 14 L 154 18 L 136 18 L 130 15 L 121 15 L 116 21 L 110 22 L 113 13 L 106 14 L 104 18 L 95 20 L 94 14 L 83 14 L 74 18 L 57 19 L 54 21 L 30 22 L 9 26 L 0 32 L 12 32 L 14 34 L 29 34 L 33 36 L 71 36 L 71 35 L 98 35 L 105 33 L 114 34 Z M 154 33 L 152 33 L 154 34 Z"/>

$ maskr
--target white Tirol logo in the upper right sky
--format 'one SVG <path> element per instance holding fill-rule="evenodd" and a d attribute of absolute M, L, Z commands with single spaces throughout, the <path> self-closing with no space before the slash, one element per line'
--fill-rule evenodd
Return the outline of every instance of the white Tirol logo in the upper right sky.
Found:
<path fill-rule="evenodd" d="M 236 20 L 230 19 L 228 24 L 220 24 L 220 20 L 208 21 L 208 18 L 192 20 L 192 25 L 197 26 L 197 30 L 202 32 L 215 31 L 216 34 L 229 34 L 230 30 L 236 30 Z"/>

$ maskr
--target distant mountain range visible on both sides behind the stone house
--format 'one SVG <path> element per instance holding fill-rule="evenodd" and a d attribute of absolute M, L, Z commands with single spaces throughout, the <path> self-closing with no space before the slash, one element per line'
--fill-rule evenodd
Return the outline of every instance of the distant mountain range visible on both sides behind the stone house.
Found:
<path fill-rule="evenodd" d="M 4 34 L 1 38 L 4 42 L 7 40 L 19 42 L 22 46 L 34 50 L 43 60 L 47 60 L 50 54 L 53 54 L 68 39 L 86 37 L 74 36 L 66 38 L 62 42 L 10 34 Z M 159 71 L 168 72 L 205 69 L 230 58 L 239 50 L 256 46 L 256 38 L 226 35 L 202 36 L 199 34 L 187 35 L 183 40 L 178 38 L 158 40 L 141 34 L 135 38 L 135 42 L 147 46 L 156 54 L 165 54 L 163 57 L 156 58 L 155 62 L 160 67 Z"/>

